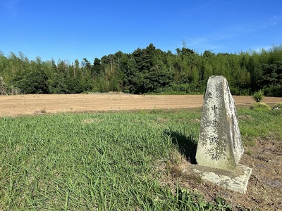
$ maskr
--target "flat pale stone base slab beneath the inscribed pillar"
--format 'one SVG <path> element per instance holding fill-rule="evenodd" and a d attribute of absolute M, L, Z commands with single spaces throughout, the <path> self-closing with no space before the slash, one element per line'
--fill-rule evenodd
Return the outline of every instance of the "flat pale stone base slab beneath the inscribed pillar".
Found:
<path fill-rule="evenodd" d="M 235 170 L 227 171 L 212 167 L 192 165 L 192 172 L 199 175 L 202 180 L 227 188 L 231 191 L 246 193 L 247 184 L 252 174 L 252 169 L 245 165 L 237 165 Z"/>

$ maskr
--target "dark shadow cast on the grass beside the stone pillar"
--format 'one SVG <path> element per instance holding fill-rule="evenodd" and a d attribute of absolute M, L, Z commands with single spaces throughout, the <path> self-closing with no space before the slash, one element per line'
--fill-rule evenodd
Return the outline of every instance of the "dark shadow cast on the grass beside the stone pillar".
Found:
<path fill-rule="evenodd" d="M 171 136 L 173 144 L 178 148 L 178 151 L 185 156 L 191 164 L 197 164 L 196 151 L 197 143 L 194 134 L 186 135 L 183 132 L 167 129 L 165 134 Z"/>

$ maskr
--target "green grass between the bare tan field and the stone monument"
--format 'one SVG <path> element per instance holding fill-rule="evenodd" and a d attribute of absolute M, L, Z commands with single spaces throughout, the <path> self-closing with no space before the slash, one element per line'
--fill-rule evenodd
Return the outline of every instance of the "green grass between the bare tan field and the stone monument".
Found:
<path fill-rule="evenodd" d="M 281 113 L 238 109 L 245 146 L 282 139 Z M 225 210 L 162 186 L 158 160 L 197 142 L 200 110 L 0 118 L 0 210 Z M 258 123 L 259 122 L 259 123 Z M 179 140 L 180 141 L 180 140 Z M 182 152 L 183 153 L 183 152 Z M 187 153 L 187 152 L 186 152 Z"/>

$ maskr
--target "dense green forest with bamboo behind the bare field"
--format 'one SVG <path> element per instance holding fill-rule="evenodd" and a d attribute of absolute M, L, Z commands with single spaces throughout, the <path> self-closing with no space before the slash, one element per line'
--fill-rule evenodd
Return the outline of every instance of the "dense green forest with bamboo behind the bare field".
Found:
<path fill-rule="evenodd" d="M 282 96 L 282 45 L 268 51 L 196 53 L 183 47 L 161 51 L 153 44 L 133 53 L 118 51 L 82 61 L 29 60 L 0 53 L 0 94 L 75 94 L 121 91 L 130 94 L 203 94 L 211 75 L 228 79 L 234 95 L 262 89 Z"/>

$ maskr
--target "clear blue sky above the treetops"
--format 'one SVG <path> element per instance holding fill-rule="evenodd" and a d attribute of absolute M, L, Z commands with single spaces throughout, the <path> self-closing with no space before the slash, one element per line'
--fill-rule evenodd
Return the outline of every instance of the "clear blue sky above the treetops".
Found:
<path fill-rule="evenodd" d="M 259 51 L 282 44 L 282 1 L 0 0 L 0 51 L 30 60 L 162 51 Z"/>

